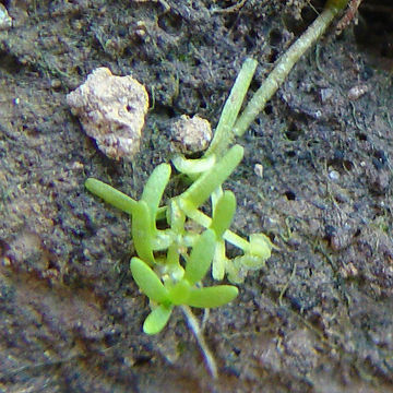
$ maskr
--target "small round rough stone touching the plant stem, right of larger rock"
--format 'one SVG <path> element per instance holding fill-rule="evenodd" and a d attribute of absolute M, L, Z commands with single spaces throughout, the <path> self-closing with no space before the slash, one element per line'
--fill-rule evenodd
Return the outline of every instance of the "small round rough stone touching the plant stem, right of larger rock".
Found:
<path fill-rule="evenodd" d="M 182 115 L 171 128 L 172 148 L 183 154 L 203 152 L 212 140 L 212 128 L 198 115 Z"/>

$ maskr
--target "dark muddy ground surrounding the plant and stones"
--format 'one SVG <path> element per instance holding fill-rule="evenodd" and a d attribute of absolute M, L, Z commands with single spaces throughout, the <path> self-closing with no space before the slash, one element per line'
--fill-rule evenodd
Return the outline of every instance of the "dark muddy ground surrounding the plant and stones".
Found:
<path fill-rule="evenodd" d="M 260 63 L 255 90 L 323 1 L 2 3 L 14 26 L 0 32 L 0 392 L 393 391 L 390 1 L 332 27 L 239 140 L 233 228 L 279 251 L 210 313 L 218 381 L 180 312 L 142 333 L 129 219 L 83 182 L 138 198 L 169 160 L 172 119 L 215 126 L 243 59 Z M 132 163 L 105 157 L 66 104 L 103 66 L 151 97 Z"/>

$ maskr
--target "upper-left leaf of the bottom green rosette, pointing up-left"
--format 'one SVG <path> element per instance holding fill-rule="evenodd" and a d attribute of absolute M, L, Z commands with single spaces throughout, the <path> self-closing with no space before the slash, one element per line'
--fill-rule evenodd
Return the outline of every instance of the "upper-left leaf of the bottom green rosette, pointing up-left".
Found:
<path fill-rule="evenodd" d="M 130 269 L 136 285 L 151 300 L 158 303 L 169 301 L 168 290 L 145 262 L 132 258 Z"/>

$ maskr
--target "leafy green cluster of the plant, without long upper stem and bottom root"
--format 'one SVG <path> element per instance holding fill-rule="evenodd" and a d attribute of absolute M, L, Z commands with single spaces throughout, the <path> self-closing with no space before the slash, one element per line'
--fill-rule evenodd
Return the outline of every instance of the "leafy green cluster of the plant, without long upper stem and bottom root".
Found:
<path fill-rule="evenodd" d="M 145 333 L 158 333 L 175 306 L 212 308 L 237 296 L 238 289 L 233 285 L 201 286 L 212 262 L 214 278 L 222 279 L 227 272 L 230 281 L 240 282 L 245 272 L 263 266 L 270 257 L 272 245 L 264 235 L 253 234 L 247 241 L 229 230 L 236 199 L 233 192 L 222 191 L 221 186 L 242 155 L 240 145 L 233 146 L 164 209 L 159 207 L 159 202 L 170 177 L 168 164 L 154 169 L 140 201 L 97 179 L 86 180 L 85 186 L 91 192 L 132 216 L 131 233 L 138 258 L 131 260 L 131 272 L 153 309 L 143 325 Z M 221 194 L 214 201 L 211 218 L 199 207 L 218 189 Z M 157 229 L 156 221 L 164 217 L 167 228 Z M 193 229 L 187 229 L 189 221 L 194 223 Z M 225 241 L 240 248 L 243 254 L 227 259 Z"/>

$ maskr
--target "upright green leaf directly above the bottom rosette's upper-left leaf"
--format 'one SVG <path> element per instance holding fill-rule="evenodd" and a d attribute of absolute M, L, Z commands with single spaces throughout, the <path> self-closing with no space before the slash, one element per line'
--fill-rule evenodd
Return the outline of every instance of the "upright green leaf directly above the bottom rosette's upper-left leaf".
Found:
<path fill-rule="evenodd" d="M 140 257 L 143 261 L 153 265 L 155 263 L 153 254 L 153 240 L 155 228 L 152 225 L 152 215 L 145 201 L 136 202 L 132 211 L 132 239 Z"/>

